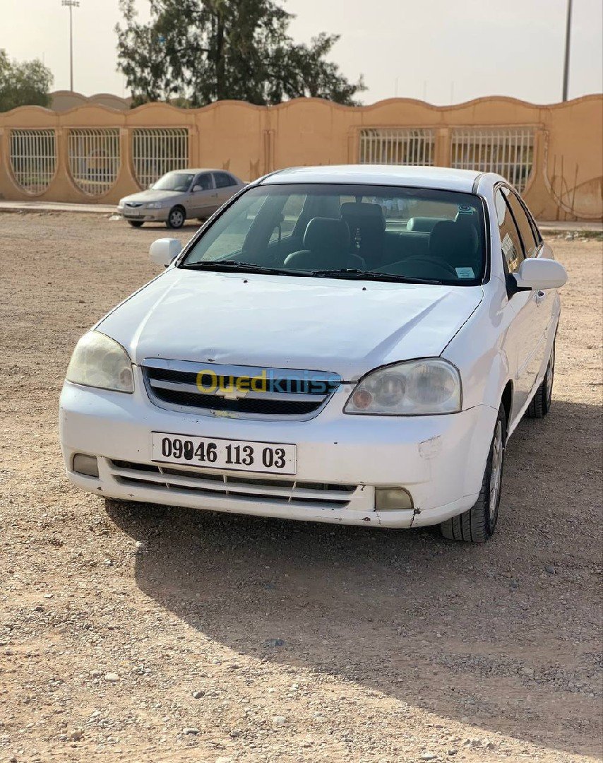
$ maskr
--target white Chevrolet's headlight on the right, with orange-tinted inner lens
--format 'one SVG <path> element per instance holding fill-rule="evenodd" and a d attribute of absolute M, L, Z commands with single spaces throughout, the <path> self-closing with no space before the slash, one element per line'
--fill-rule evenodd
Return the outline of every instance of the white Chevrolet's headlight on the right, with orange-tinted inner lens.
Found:
<path fill-rule="evenodd" d="M 460 374 L 447 360 L 432 358 L 387 365 L 370 372 L 350 395 L 345 414 L 425 416 L 460 410 Z"/>

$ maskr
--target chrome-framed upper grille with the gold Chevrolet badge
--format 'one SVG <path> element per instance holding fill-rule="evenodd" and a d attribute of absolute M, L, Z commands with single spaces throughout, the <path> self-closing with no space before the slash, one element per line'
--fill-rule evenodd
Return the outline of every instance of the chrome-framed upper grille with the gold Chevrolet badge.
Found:
<path fill-rule="evenodd" d="M 232 365 L 208 369 L 207 364 L 162 359 L 146 359 L 143 376 L 149 398 L 159 407 L 262 418 L 315 414 L 341 383 L 328 372 Z"/>

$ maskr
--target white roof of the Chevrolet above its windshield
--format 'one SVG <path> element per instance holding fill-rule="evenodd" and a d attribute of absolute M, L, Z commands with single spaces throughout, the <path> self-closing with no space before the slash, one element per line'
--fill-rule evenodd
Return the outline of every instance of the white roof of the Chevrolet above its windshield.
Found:
<path fill-rule="evenodd" d="M 492 183 L 504 180 L 494 173 L 451 167 L 411 167 L 393 164 L 342 164 L 318 167 L 290 167 L 272 172 L 261 180 L 262 185 L 278 183 L 367 183 L 368 185 L 408 185 L 419 188 L 441 188 L 472 192 L 476 179 L 488 178 Z"/>

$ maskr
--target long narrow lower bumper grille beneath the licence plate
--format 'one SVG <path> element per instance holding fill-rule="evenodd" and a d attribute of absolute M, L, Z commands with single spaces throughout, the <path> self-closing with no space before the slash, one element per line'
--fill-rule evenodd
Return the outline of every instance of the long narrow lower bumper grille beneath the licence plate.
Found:
<path fill-rule="evenodd" d="M 237 501 L 305 505 L 308 508 L 343 509 L 358 490 L 358 485 L 220 475 L 204 469 L 165 468 L 130 461 L 109 461 L 109 467 L 120 485 L 229 496 Z"/>

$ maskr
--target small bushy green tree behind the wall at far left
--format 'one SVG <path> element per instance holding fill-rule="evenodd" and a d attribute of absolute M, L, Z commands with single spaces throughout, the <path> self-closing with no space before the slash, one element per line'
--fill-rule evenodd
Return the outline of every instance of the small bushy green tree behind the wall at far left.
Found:
<path fill-rule="evenodd" d="M 53 75 L 39 60 L 10 61 L 0 50 L 0 111 L 18 106 L 50 107 Z"/>

